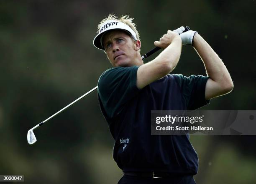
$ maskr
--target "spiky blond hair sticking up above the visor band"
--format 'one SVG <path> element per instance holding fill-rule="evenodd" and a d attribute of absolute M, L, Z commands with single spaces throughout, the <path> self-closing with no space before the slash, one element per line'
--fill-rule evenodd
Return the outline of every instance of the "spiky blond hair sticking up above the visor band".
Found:
<path fill-rule="evenodd" d="M 100 27 L 102 26 L 102 24 L 104 24 L 104 22 L 108 20 L 118 20 L 120 22 L 125 23 L 129 27 L 131 27 L 132 30 L 136 33 L 137 39 L 139 40 L 140 39 L 139 33 L 137 31 L 136 24 L 133 23 L 133 19 L 134 18 L 130 18 L 129 15 L 122 15 L 121 17 L 118 18 L 118 16 L 116 16 L 115 14 L 110 13 L 107 18 L 100 21 L 100 24 L 98 25 L 97 29 L 98 29 L 98 32 L 100 32 Z"/>

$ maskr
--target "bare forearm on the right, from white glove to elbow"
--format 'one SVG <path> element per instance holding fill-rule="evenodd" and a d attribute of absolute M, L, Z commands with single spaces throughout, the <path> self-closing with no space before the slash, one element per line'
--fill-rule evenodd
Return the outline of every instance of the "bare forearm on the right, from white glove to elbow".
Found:
<path fill-rule="evenodd" d="M 198 33 L 194 36 L 193 47 L 201 57 L 205 65 L 207 75 L 213 81 L 218 82 L 221 87 L 233 88 L 232 79 L 224 63 Z"/>

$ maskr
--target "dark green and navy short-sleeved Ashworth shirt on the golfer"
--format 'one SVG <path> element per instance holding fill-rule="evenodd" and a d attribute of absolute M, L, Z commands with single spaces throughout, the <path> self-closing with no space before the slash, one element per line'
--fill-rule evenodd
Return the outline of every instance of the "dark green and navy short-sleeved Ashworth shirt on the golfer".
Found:
<path fill-rule="evenodd" d="M 208 77 L 169 74 L 139 90 L 137 70 L 110 68 L 98 81 L 100 108 L 115 139 L 115 162 L 124 172 L 197 174 L 189 136 L 151 136 L 151 110 L 193 110 L 208 104 Z"/>

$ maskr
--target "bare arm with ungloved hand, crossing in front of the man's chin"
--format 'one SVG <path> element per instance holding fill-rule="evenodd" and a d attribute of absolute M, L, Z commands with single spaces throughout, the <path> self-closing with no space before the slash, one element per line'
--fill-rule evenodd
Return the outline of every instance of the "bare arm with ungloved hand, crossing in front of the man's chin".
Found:
<path fill-rule="evenodd" d="M 137 87 L 142 89 L 151 82 L 169 74 L 179 61 L 182 41 L 177 33 L 168 30 L 154 45 L 164 49 L 154 60 L 141 65 L 137 71 Z"/>

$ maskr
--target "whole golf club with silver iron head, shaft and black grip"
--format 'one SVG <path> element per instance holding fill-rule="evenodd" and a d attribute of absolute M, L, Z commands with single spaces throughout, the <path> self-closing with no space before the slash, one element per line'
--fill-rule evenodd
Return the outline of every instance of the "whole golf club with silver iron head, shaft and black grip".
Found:
<path fill-rule="evenodd" d="M 183 32 L 186 32 L 190 30 L 188 26 L 185 27 L 185 30 Z M 154 54 L 156 51 L 160 50 L 160 47 L 155 47 L 154 49 L 150 50 L 149 52 L 147 52 L 145 55 L 143 55 L 141 57 L 141 59 L 145 59 L 147 57 L 149 57 L 150 55 Z M 87 96 L 88 94 L 90 94 L 91 92 L 95 91 L 98 88 L 98 86 L 94 87 L 92 90 L 88 91 L 87 93 L 85 93 L 84 95 L 82 95 L 81 97 L 79 97 L 78 99 L 76 99 L 74 102 L 68 104 L 66 107 L 62 108 L 61 110 L 59 110 L 58 112 L 56 112 L 55 114 L 53 114 L 51 117 L 47 118 L 46 120 L 44 120 L 43 122 L 37 124 L 35 127 L 31 128 L 28 130 L 28 135 L 27 135 L 27 139 L 28 139 L 28 144 L 34 144 L 36 142 L 36 136 L 34 134 L 34 130 L 37 129 L 38 127 L 42 126 L 45 122 L 47 122 L 48 120 L 50 120 L 51 118 L 53 118 L 54 116 L 60 114 L 61 112 L 63 112 L 64 110 L 66 110 L 67 108 L 69 108 L 70 106 L 72 106 L 73 104 L 75 104 L 76 102 L 78 102 L 80 99 L 84 98 L 85 96 Z"/>

